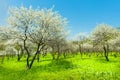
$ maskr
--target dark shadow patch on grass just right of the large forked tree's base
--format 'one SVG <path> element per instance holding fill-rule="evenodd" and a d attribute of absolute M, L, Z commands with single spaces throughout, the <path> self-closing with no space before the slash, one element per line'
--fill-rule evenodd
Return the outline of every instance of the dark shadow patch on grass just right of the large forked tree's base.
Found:
<path fill-rule="evenodd" d="M 66 60 L 59 60 L 59 61 L 51 61 L 49 64 L 40 65 L 40 66 L 33 66 L 31 70 L 36 71 L 48 71 L 48 72 L 56 72 L 56 71 L 63 71 L 68 69 L 75 68 L 71 62 Z"/>

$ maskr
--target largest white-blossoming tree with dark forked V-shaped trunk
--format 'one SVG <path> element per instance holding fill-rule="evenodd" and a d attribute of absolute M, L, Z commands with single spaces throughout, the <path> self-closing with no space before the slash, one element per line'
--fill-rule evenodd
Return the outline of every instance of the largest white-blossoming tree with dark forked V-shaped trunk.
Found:
<path fill-rule="evenodd" d="M 66 19 L 52 9 L 33 10 L 32 7 L 11 9 L 8 21 L 11 27 L 19 33 L 16 38 L 23 41 L 27 53 L 27 69 L 32 67 L 36 56 L 41 53 L 47 42 L 52 40 L 55 32 L 63 31 L 66 24 Z M 31 62 L 29 61 L 31 51 L 27 47 L 28 42 L 35 45 L 35 54 Z"/>

